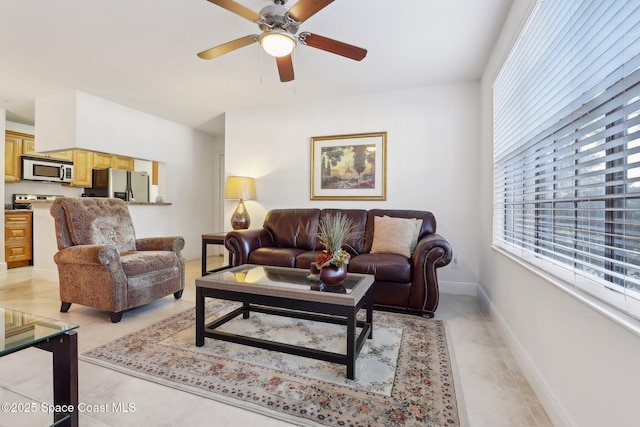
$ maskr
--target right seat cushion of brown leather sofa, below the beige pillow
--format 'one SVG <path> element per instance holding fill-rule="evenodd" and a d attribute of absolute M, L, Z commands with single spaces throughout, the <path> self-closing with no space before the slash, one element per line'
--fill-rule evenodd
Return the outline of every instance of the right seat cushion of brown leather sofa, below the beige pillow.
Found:
<path fill-rule="evenodd" d="M 360 254 L 351 259 L 348 271 L 373 274 L 376 281 L 411 281 L 411 262 L 408 258 L 396 254 Z"/>

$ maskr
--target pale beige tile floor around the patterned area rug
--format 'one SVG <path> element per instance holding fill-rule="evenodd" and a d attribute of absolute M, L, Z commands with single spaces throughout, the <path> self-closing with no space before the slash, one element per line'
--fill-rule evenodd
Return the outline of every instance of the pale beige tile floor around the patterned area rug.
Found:
<path fill-rule="evenodd" d="M 211 257 L 209 268 L 220 264 Z M 194 306 L 194 281 L 200 260 L 187 262 L 187 286 L 181 300 L 168 296 L 124 314 L 112 324 L 109 316 L 72 305 L 60 313 L 57 274 L 32 268 L 0 272 L 0 306 L 80 325 L 79 352 L 141 329 L 159 319 Z M 551 426 L 544 409 L 502 342 L 496 325 L 475 297 L 441 295 L 436 318 L 447 324 L 468 425 L 472 427 Z M 80 401 L 88 408 L 80 425 L 102 426 L 248 426 L 290 425 L 260 414 L 224 405 L 172 388 L 127 376 L 96 365 L 79 363 Z M 0 402 L 52 401 L 51 354 L 27 349 L 0 358 Z M 133 404 L 129 412 L 100 412 L 100 405 Z M 52 417 L 42 411 L 28 414 L 0 412 L 0 427 L 45 426 Z"/>

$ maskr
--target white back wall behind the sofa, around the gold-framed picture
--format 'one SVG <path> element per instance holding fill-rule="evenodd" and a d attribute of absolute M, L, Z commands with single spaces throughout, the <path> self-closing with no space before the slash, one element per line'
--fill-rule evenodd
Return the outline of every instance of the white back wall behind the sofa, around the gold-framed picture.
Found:
<path fill-rule="evenodd" d="M 460 268 L 439 270 L 444 283 L 474 292 L 478 281 L 477 83 L 424 87 L 226 114 L 226 173 L 254 176 L 247 202 L 259 226 L 274 208 L 419 209 L 434 213 Z M 387 132 L 386 201 L 310 200 L 310 138 Z M 226 202 L 225 224 L 236 202 Z"/>

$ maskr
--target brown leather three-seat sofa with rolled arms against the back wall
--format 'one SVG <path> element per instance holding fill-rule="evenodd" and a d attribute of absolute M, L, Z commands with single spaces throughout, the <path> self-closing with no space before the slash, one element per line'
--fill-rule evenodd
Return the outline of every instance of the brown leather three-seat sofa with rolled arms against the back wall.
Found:
<path fill-rule="evenodd" d="M 347 242 L 351 255 L 348 271 L 373 274 L 373 301 L 377 308 L 409 311 L 432 317 L 438 307 L 436 269 L 449 264 L 453 251 L 436 234 L 431 212 L 383 209 L 276 209 L 269 211 L 263 228 L 229 232 L 225 247 L 234 264 L 305 268 L 322 250 L 318 224 L 325 213 L 342 212 L 352 219 L 359 236 Z M 422 220 L 419 238 L 410 257 L 396 253 L 372 253 L 375 217 Z"/>

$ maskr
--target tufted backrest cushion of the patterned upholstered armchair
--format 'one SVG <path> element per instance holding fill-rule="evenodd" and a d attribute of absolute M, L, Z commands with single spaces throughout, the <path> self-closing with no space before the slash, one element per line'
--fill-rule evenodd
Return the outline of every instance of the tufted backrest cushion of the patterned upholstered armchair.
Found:
<path fill-rule="evenodd" d="M 136 250 L 133 222 L 123 200 L 69 197 L 59 203 L 74 245 L 110 245 L 120 252 Z"/>

